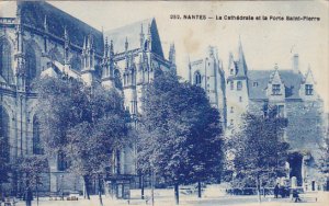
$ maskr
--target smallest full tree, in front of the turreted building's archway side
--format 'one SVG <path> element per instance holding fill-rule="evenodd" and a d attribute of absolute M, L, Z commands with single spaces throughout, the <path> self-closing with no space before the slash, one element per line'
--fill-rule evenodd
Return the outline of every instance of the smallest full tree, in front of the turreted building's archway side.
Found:
<path fill-rule="evenodd" d="M 230 153 L 226 162 L 234 187 L 257 187 L 259 202 L 261 187 L 274 186 L 279 176 L 285 176 L 285 162 L 290 145 L 283 139 L 287 121 L 277 117 L 275 108 L 270 114 L 242 116 L 239 129 L 226 141 Z"/>

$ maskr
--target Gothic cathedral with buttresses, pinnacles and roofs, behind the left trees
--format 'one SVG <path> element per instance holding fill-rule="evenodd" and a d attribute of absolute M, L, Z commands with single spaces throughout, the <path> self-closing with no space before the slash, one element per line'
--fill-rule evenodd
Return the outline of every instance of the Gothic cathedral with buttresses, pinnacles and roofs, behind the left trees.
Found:
<path fill-rule="evenodd" d="M 175 70 L 174 46 L 164 59 L 155 19 L 100 32 L 47 2 L 9 2 L 0 15 L 0 135 L 9 145 L 9 161 L 43 153 L 36 114 L 38 77 L 63 75 L 87 84 L 122 91 L 125 107 L 135 117 L 144 84 L 157 73 Z M 14 9 L 13 9 L 14 8 Z M 139 111 L 140 112 L 140 111 Z M 66 172 L 64 157 L 49 160 L 44 192 L 81 191 L 82 181 Z M 135 150 L 117 152 L 117 176 L 136 174 Z M 7 184 L 18 191 L 13 176 Z"/>

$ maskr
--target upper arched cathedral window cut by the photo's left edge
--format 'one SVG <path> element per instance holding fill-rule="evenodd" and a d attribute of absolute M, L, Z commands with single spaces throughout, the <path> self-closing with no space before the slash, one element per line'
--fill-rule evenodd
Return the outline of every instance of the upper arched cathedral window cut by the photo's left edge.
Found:
<path fill-rule="evenodd" d="M 9 83 L 13 83 L 13 70 L 11 68 L 11 46 L 8 39 L 0 41 L 0 76 Z"/>

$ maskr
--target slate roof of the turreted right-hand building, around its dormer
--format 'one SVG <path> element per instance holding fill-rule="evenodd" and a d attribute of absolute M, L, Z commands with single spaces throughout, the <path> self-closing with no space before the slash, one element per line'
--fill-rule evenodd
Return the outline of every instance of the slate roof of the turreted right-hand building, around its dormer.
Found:
<path fill-rule="evenodd" d="M 249 70 L 248 71 L 249 99 L 251 100 L 268 99 L 266 88 L 271 75 L 273 72 L 274 70 Z M 296 73 L 293 70 L 279 70 L 279 75 L 285 85 L 285 98 L 299 99 L 299 89 L 304 76 L 300 72 Z M 253 87 L 253 82 L 258 82 L 258 85 Z"/>

